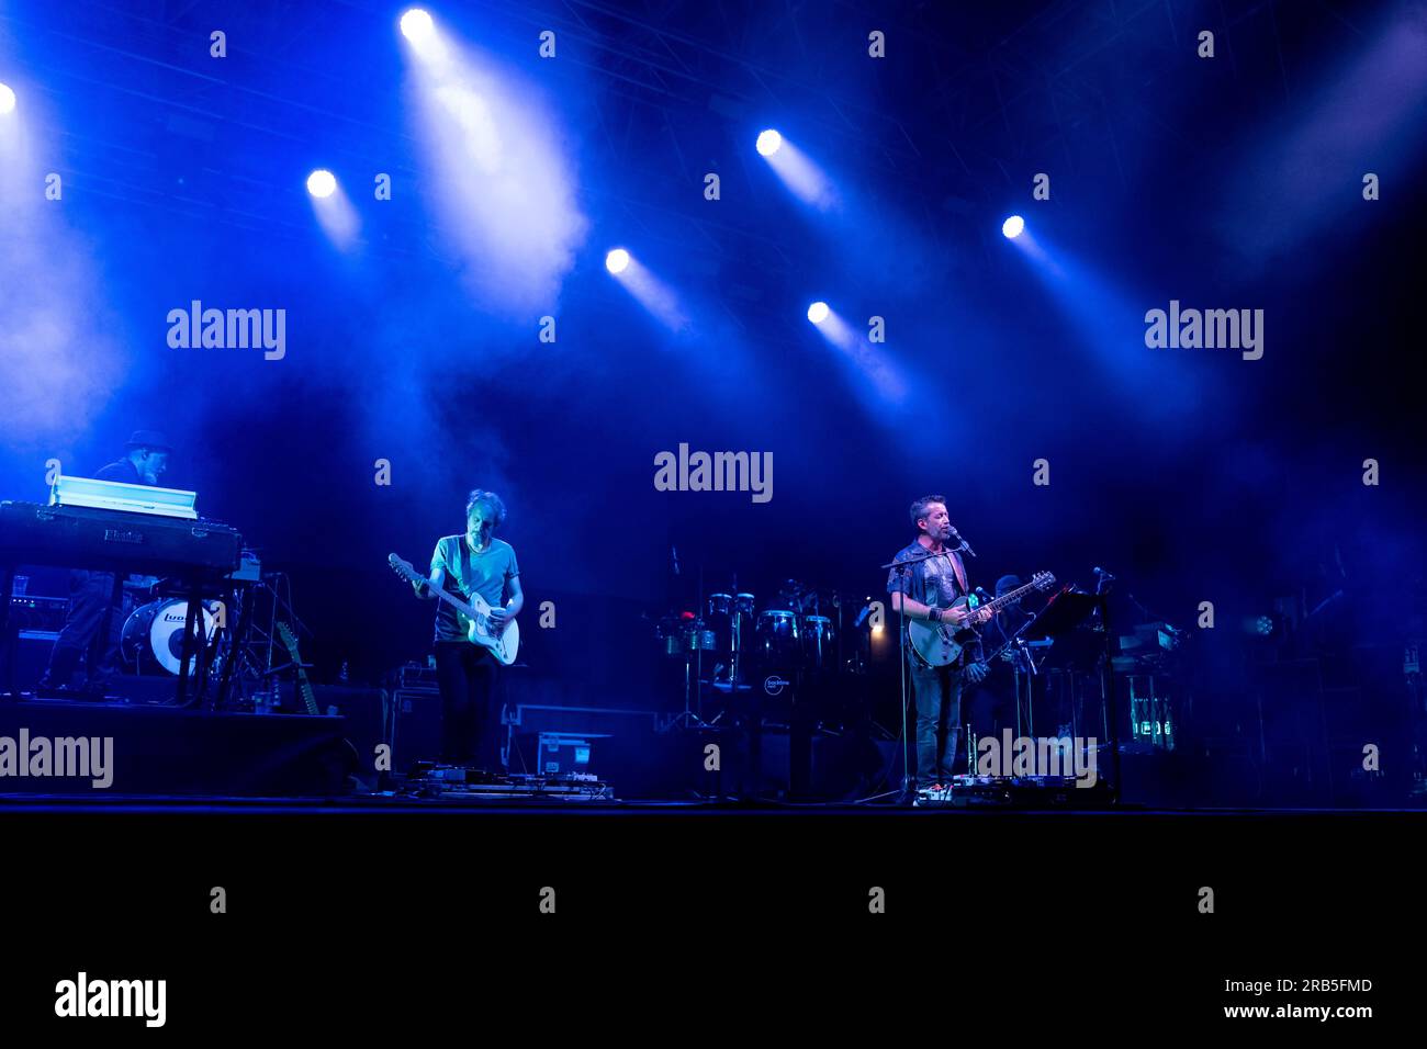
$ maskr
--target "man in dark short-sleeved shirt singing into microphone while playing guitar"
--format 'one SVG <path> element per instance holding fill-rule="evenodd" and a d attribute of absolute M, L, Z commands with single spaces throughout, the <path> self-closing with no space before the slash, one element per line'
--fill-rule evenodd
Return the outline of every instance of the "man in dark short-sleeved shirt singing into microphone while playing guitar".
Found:
<path fill-rule="evenodd" d="M 960 625 L 972 617 L 985 622 L 989 615 L 986 612 L 952 607 L 959 597 L 968 594 L 968 584 L 966 565 L 962 564 L 958 548 L 948 545 L 956 529 L 946 512 L 946 497 L 923 495 L 912 504 L 910 517 L 918 531 L 916 539 L 898 552 L 893 561 L 926 558 L 928 554 L 939 557 L 919 559 L 905 568 L 893 565 L 888 572 L 892 609 L 908 619 Z M 916 788 L 922 794 L 942 792 L 950 785 L 956 764 L 962 685 L 966 681 L 980 681 L 986 675 L 986 665 L 982 662 L 979 642 L 969 645 L 948 667 L 929 667 L 906 638 L 902 644 L 916 701 Z"/>

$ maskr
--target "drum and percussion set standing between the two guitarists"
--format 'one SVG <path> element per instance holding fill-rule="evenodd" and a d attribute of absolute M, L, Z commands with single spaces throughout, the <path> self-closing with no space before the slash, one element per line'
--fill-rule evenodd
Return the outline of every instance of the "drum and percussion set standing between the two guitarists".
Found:
<path fill-rule="evenodd" d="M 779 696 L 795 681 L 845 665 L 842 611 L 856 605 L 836 592 L 788 579 L 762 608 L 736 587 L 701 605 L 701 614 L 665 615 L 655 628 L 665 658 L 685 664 L 686 719 L 698 721 L 695 692 L 705 685 L 729 698 L 753 689 Z M 860 667 L 856 658 L 846 662 Z"/>

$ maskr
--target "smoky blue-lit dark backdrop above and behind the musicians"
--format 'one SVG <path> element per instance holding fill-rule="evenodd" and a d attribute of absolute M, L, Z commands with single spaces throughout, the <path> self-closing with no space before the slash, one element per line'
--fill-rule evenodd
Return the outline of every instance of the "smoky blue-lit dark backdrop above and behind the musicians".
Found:
<path fill-rule="evenodd" d="M 0 227 L 4 497 L 43 498 L 51 457 L 87 474 L 166 430 L 164 482 L 290 572 L 324 681 L 424 657 L 431 609 L 384 558 L 427 558 L 477 485 L 509 507 L 528 672 L 606 705 L 676 705 L 646 617 L 692 607 L 701 569 L 705 591 L 879 595 L 925 492 L 976 547 L 975 582 L 1092 587 L 1100 565 L 1190 631 L 1207 732 L 1237 731 L 1254 659 L 1329 642 L 1391 664 L 1423 637 L 1421 4 L 432 13 L 499 84 L 504 156 L 548 158 L 529 197 L 441 163 L 390 4 L 0 3 L 24 118 Z M 779 181 L 765 127 L 835 207 Z M 314 220 L 315 167 L 350 198 L 347 250 Z M 1000 235 L 1012 213 L 1039 257 Z M 682 324 L 611 278 L 615 245 Z M 885 318 L 872 364 L 805 320 L 816 298 L 863 335 Z M 285 355 L 171 348 L 193 300 L 285 310 Z M 1170 300 L 1263 310 L 1263 358 L 1146 348 Z M 772 452 L 772 500 L 656 491 L 681 442 Z M 1241 627 L 1336 591 L 1320 632 Z M 1407 702 L 1400 674 L 1373 688 Z"/>

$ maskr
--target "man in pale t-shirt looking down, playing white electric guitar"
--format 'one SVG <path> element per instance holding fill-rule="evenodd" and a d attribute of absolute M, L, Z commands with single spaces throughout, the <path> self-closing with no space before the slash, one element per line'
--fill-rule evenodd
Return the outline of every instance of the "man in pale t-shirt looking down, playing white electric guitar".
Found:
<path fill-rule="evenodd" d="M 515 549 L 494 535 L 504 522 L 501 497 L 474 490 L 465 505 L 465 534 L 447 535 L 437 542 L 431 575 L 412 584 L 417 597 L 434 601 L 432 587 L 462 601 L 479 594 L 491 607 L 489 625 L 497 631 L 519 615 L 525 597 Z M 484 766 L 491 756 L 482 748 L 499 661 L 488 648 L 467 639 L 455 609 L 445 601 L 437 604 L 435 658 L 441 685 L 441 761 Z"/>

